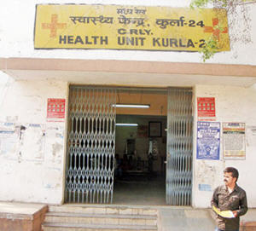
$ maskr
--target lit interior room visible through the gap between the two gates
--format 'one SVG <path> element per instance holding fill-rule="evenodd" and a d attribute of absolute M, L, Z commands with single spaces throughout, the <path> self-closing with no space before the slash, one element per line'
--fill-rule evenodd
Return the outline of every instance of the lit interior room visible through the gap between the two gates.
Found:
<path fill-rule="evenodd" d="M 166 90 L 118 90 L 113 204 L 166 205 L 166 107 Z"/>

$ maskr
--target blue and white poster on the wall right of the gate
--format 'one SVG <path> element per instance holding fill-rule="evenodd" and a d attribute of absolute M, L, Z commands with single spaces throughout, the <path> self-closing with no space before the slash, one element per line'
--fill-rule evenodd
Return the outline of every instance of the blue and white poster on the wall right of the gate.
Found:
<path fill-rule="evenodd" d="M 219 159 L 220 123 L 197 122 L 196 159 Z"/>

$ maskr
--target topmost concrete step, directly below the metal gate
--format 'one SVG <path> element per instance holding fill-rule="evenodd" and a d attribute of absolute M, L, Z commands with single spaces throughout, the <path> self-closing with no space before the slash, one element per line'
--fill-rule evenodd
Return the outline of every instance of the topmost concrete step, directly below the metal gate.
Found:
<path fill-rule="evenodd" d="M 157 210 L 147 207 L 130 206 L 75 206 L 75 205 L 56 205 L 49 206 L 49 211 L 86 213 L 86 214 L 126 214 L 126 215 L 157 215 Z"/>

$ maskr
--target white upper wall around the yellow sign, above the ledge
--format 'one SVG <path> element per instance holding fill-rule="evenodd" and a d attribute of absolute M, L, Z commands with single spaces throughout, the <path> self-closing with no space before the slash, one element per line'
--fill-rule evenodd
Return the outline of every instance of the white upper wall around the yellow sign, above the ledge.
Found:
<path fill-rule="evenodd" d="M 132 50 L 35 50 L 33 48 L 35 5 L 46 3 L 86 3 L 86 4 L 121 4 L 145 6 L 189 7 L 189 0 L 148 1 L 148 0 L 30 0 L 4 1 L 0 8 L 0 57 L 35 57 L 35 58 L 68 58 L 68 59 L 103 59 L 125 61 L 172 61 L 172 62 L 201 62 L 199 53 L 190 52 L 158 52 Z M 243 43 L 241 40 L 231 41 L 232 50 L 216 54 L 207 62 L 227 64 L 256 64 L 256 4 L 248 4 L 248 14 L 251 18 L 251 37 L 253 43 Z M 230 35 L 234 32 L 241 34 L 243 19 L 237 19 L 236 26 L 230 27 Z M 233 29 L 232 29 L 233 28 Z"/>

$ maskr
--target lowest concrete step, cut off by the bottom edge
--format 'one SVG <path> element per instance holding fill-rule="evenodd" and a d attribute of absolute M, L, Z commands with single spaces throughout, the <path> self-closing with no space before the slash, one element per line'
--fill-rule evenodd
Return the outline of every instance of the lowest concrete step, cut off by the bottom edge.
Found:
<path fill-rule="evenodd" d="M 157 226 L 44 223 L 44 231 L 157 231 Z"/>

